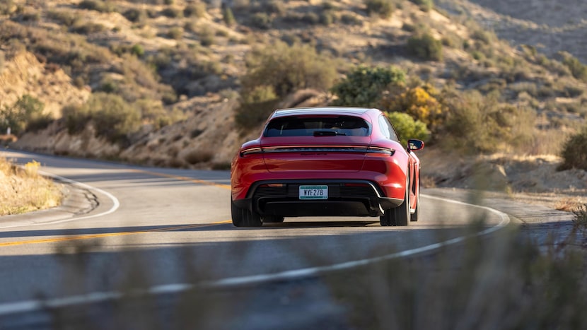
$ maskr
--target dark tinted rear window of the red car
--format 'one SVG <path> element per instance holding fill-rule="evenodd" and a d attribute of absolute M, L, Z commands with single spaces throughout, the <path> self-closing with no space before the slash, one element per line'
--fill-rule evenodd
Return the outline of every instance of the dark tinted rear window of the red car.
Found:
<path fill-rule="evenodd" d="M 360 117 L 279 117 L 265 128 L 266 137 L 275 136 L 368 136 L 369 124 Z"/>

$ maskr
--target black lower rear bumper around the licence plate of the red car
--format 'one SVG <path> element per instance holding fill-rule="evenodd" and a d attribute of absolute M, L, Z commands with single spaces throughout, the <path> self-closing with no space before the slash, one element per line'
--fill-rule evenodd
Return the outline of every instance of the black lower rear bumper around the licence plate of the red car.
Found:
<path fill-rule="evenodd" d="M 328 199 L 300 200 L 301 184 L 327 185 Z M 261 216 L 383 216 L 403 199 L 383 197 L 380 188 L 367 180 L 296 179 L 255 182 L 247 197 L 234 203 Z"/>

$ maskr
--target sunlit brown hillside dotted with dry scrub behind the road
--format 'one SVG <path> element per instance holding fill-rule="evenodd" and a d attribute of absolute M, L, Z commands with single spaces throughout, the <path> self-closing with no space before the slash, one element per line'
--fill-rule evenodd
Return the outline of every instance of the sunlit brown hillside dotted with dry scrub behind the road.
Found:
<path fill-rule="evenodd" d="M 513 39 L 501 40 L 496 28 L 506 26 L 503 22 L 550 23 L 506 19 L 516 14 L 499 11 L 509 1 L 497 1 L 499 8 L 481 0 L 437 2 L 9 0 L 0 4 L 0 69 L 8 77 L 0 86 L 0 108 L 32 95 L 54 116 L 46 129 L 21 135 L 16 148 L 144 165 L 226 168 L 240 143 L 259 130 L 259 124 L 243 127 L 235 121 L 243 77 L 255 54 L 281 42 L 310 46 L 328 57 L 335 83 L 357 65 L 395 66 L 409 84 L 449 88 L 453 98 L 477 106 L 492 95 L 496 107 L 511 112 L 492 115 L 525 116 L 506 129 L 524 142 L 502 148 L 504 157 L 557 155 L 566 137 L 584 125 L 586 82 L 571 62 L 552 55 L 554 50 L 523 46 L 533 45 L 542 30 L 527 29 L 534 34 L 518 33 L 527 39 L 508 42 Z M 389 4 L 389 10 L 377 4 Z M 435 48 L 414 52 L 409 42 L 422 35 Z M 579 62 L 576 68 L 583 66 Z M 332 100 L 328 88 L 294 90 L 275 106 Z M 100 122 L 105 115 L 71 120 L 109 107 L 128 114 L 116 135 L 103 132 L 109 125 Z M 436 182 L 451 180 L 436 177 Z"/>

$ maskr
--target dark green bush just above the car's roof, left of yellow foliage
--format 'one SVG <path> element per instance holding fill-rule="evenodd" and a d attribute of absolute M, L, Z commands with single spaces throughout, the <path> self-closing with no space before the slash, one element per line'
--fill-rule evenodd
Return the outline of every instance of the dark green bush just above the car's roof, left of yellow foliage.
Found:
<path fill-rule="evenodd" d="M 385 88 L 403 82 L 405 73 L 401 69 L 358 66 L 332 87 L 338 97 L 333 105 L 376 107 Z"/>

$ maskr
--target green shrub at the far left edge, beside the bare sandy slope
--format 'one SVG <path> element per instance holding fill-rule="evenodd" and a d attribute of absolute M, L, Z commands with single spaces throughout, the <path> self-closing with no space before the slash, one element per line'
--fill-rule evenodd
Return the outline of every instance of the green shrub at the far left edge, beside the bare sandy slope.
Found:
<path fill-rule="evenodd" d="M 0 109 L 0 133 L 4 134 L 10 128 L 14 135 L 23 134 L 29 129 L 39 129 L 40 122 L 50 122 L 48 114 L 43 114 L 45 104 L 31 95 L 25 94 L 18 98 L 13 105 L 4 105 Z M 46 126 L 46 125 L 45 125 Z"/>

